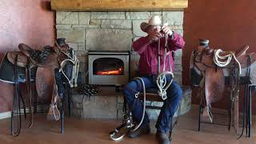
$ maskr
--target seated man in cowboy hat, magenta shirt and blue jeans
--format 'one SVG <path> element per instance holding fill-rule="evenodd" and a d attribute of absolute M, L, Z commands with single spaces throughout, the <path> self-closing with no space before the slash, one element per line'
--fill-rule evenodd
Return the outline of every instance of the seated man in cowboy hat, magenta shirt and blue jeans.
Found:
<path fill-rule="evenodd" d="M 163 64 L 164 47 L 166 42 L 165 36 L 168 35 L 167 42 L 169 51 L 182 49 L 185 42 L 183 41 L 182 36 L 170 30 L 170 27 L 162 26 L 161 19 L 158 16 L 152 16 L 148 23 L 142 22 L 141 30 L 146 32 L 148 35 L 146 37 L 138 38 L 138 40 L 133 43 L 134 50 L 140 54 L 138 70 L 145 82 L 146 89 L 158 89 L 156 85 L 156 78 L 158 77 L 158 39 L 160 38 L 161 40 L 160 55 L 162 55 L 160 70 L 163 70 L 163 66 L 166 67 L 165 70 L 170 70 L 170 66 L 171 69 L 174 70 L 174 62 L 171 54 L 170 57 L 166 56 L 165 65 Z M 168 60 L 168 58 L 170 59 Z M 168 61 L 170 61 L 170 65 Z M 167 81 L 170 81 L 170 77 L 167 77 L 166 79 Z M 123 94 L 126 102 L 130 106 L 135 122 L 139 123 L 142 119 L 143 104 L 140 101 L 134 101 L 134 94 L 136 91 L 142 92 L 142 82 L 139 80 L 129 82 L 125 86 Z M 171 118 L 178 108 L 178 103 L 182 99 L 182 89 L 178 85 L 178 82 L 173 81 L 166 92 L 167 99 L 164 101 L 164 105 L 162 106 L 162 110 L 158 116 L 158 122 L 155 125 L 157 128 L 156 137 L 158 138 L 158 142 L 165 144 L 169 143 L 169 138 L 166 133 L 170 131 L 169 125 Z M 138 138 L 142 134 L 149 134 L 149 123 L 150 121 L 146 114 L 142 125 L 138 130 L 135 130 L 134 132 L 131 131 L 129 137 Z"/>

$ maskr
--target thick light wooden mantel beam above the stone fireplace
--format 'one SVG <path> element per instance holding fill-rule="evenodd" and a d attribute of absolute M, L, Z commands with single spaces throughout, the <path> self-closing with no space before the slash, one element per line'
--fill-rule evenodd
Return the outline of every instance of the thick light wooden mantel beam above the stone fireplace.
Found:
<path fill-rule="evenodd" d="M 145 11 L 174 10 L 188 6 L 188 0 L 51 0 L 57 11 Z"/>

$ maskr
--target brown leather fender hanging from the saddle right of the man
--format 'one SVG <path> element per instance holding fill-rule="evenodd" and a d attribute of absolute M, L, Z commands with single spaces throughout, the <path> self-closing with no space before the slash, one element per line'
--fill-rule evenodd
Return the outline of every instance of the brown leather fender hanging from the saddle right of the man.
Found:
<path fill-rule="evenodd" d="M 208 68 L 206 69 L 206 104 L 218 102 L 224 92 L 225 78 L 222 69 Z"/>

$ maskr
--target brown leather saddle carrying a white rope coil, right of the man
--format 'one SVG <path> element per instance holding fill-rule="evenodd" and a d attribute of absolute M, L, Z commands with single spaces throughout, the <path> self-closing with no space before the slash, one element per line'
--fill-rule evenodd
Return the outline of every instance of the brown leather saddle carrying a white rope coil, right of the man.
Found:
<path fill-rule="evenodd" d="M 211 113 L 212 102 L 218 102 L 222 99 L 225 85 L 230 85 L 230 110 L 229 110 L 229 129 L 232 121 L 234 122 L 234 130 L 238 134 L 238 91 L 239 91 L 239 82 L 245 77 L 245 79 L 250 79 L 250 82 L 253 77 L 246 73 L 246 70 L 251 67 L 256 60 L 256 54 L 250 53 L 246 54 L 246 51 L 249 49 L 249 46 L 242 46 L 241 49 L 235 53 L 230 53 L 229 51 L 218 50 L 218 54 L 215 55 L 215 50 L 210 49 L 208 46 L 209 40 L 199 40 L 198 50 L 194 50 L 190 57 L 190 80 L 192 86 L 199 87 L 198 96 L 201 98 L 200 105 L 205 107 L 206 110 L 202 110 L 201 114 L 205 115 L 206 111 L 210 118 L 210 122 L 213 122 L 213 114 Z M 232 59 L 226 61 L 222 56 L 228 56 L 230 58 L 232 54 Z M 220 56 L 220 57 L 218 57 Z M 222 59 L 224 58 L 224 59 Z M 235 59 L 236 58 L 236 59 Z M 226 63 L 227 65 L 217 66 L 215 61 L 218 63 Z M 241 66 L 241 74 L 239 75 L 237 67 Z M 255 65 L 255 64 L 254 64 Z M 226 82 L 228 78 L 229 83 Z M 244 83 L 246 84 L 246 83 Z"/>

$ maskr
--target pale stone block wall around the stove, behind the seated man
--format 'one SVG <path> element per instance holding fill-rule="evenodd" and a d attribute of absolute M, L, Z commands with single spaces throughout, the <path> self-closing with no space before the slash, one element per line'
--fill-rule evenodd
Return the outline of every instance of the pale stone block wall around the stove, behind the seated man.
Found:
<path fill-rule="evenodd" d="M 131 48 L 134 40 L 146 36 L 140 23 L 151 15 L 159 15 L 162 22 L 183 34 L 183 11 L 158 12 L 57 12 L 57 38 L 66 38 L 78 52 L 80 70 L 78 81 L 86 83 L 88 50 L 131 50 L 131 78 L 138 68 L 138 54 Z M 182 50 L 175 53 L 174 76 L 182 83 Z"/>

